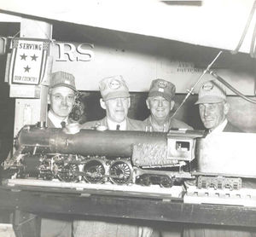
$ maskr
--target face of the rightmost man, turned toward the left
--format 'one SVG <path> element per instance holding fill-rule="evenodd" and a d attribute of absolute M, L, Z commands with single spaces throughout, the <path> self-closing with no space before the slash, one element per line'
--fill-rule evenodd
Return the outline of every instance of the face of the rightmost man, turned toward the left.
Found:
<path fill-rule="evenodd" d="M 229 105 L 226 102 L 200 104 L 201 121 L 208 130 L 215 129 L 226 118 Z"/>

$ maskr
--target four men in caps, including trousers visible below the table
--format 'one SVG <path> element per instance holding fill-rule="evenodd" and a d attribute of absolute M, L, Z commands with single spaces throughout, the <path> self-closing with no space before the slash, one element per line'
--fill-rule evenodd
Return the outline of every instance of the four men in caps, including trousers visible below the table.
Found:
<path fill-rule="evenodd" d="M 125 80 L 121 76 L 102 79 L 99 88 L 102 95 L 100 104 L 106 110 L 106 117 L 86 122 L 81 125 L 81 129 L 96 129 L 104 126 L 108 130 L 162 132 L 172 128 L 193 130 L 188 124 L 172 118 L 171 112 L 174 107 L 173 97 L 176 88 L 169 81 L 163 79 L 152 81 L 148 91 L 148 99 L 146 100 L 150 116 L 144 121 L 127 117 L 131 106 L 131 97 Z M 61 128 L 61 123 L 68 124 L 68 115 L 72 111 L 76 93 L 75 79 L 72 74 L 67 72 L 55 72 L 52 74 L 48 95 L 50 108 L 47 124 L 49 127 Z M 211 132 L 240 131 L 227 121 L 226 114 L 229 111 L 229 104 L 226 101 L 223 88 L 215 81 L 208 81 L 201 86 L 196 104 L 199 104 L 201 121 L 207 130 Z M 42 234 L 42 237 L 66 237 L 63 233 L 67 233 L 67 237 L 71 236 L 71 225 L 68 222 L 54 222 L 53 231 L 55 231 L 55 234 L 50 234 L 51 230 L 49 228 L 50 223 L 43 219 L 42 231 L 44 232 L 44 229 L 48 229 L 48 231 Z M 152 228 L 125 223 L 89 220 L 73 222 L 74 237 L 148 237 L 151 236 L 152 232 Z M 62 235 L 58 235 L 58 233 Z M 124 233 L 127 235 L 124 235 Z"/>

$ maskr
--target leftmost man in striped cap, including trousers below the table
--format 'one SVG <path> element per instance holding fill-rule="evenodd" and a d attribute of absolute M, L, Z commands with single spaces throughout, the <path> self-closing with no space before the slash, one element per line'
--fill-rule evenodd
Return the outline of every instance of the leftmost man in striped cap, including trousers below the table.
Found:
<path fill-rule="evenodd" d="M 73 109 L 76 87 L 75 78 L 67 72 L 51 74 L 48 93 L 49 112 L 47 126 L 61 128 L 61 124 L 68 124 L 68 115 Z M 70 237 L 72 222 L 42 218 L 41 237 Z"/>

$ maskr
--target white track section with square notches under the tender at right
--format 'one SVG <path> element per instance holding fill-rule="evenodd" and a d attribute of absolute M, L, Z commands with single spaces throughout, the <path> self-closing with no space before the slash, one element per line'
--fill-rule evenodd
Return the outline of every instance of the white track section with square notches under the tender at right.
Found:
<path fill-rule="evenodd" d="M 239 190 L 196 188 L 189 186 L 183 198 L 184 203 L 241 205 L 256 207 L 256 189 L 241 188 Z"/>

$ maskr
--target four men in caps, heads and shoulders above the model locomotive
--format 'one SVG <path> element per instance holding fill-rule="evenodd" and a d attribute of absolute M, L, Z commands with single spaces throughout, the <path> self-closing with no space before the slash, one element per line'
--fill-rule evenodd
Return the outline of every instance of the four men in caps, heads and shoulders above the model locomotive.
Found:
<path fill-rule="evenodd" d="M 131 98 L 125 80 L 121 76 L 104 78 L 100 82 L 99 88 L 102 95 L 100 104 L 106 110 L 106 117 L 86 122 L 81 125 L 82 129 L 93 129 L 97 126 L 105 126 L 108 130 L 193 129 L 188 124 L 172 118 L 171 112 L 175 104 L 173 97 L 176 88 L 169 81 L 163 79 L 152 81 L 146 100 L 151 114 L 144 121 L 127 117 Z M 68 115 L 73 108 L 76 92 L 72 74 L 67 72 L 52 74 L 48 97 L 49 127 L 61 128 L 61 122 L 68 123 Z M 218 127 L 219 131 L 240 131 L 232 124 L 227 123 L 226 114 L 229 112 L 229 104 L 226 101 L 224 89 L 217 82 L 208 81 L 203 84 L 199 92 L 199 99 L 195 104 L 199 105 L 202 123 L 208 130 L 215 130 Z M 220 124 L 222 124 L 221 127 L 219 127 Z"/>

